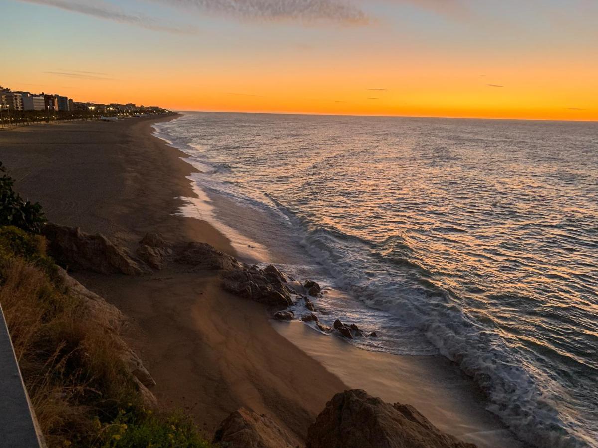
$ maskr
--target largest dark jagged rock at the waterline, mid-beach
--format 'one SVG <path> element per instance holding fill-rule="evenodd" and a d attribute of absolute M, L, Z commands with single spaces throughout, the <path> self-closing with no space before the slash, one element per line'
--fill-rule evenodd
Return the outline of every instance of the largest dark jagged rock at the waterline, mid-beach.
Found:
<path fill-rule="evenodd" d="M 225 272 L 222 275 L 222 287 L 237 296 L 269 306 L 286 308 L 293 304 L 293 291 L 285 282 L 275 273 L 266 272 L 257 266 Z"/>

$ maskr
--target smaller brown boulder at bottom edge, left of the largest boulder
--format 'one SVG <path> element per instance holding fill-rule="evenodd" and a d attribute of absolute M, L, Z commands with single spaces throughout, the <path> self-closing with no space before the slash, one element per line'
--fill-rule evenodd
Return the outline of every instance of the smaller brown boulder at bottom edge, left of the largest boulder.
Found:
<path fill-rule="evenodd" d="M 228 448 L 295 448 L 291 437 L 272 419 L 244 407 L 220 424 L 213 443 Z"/>

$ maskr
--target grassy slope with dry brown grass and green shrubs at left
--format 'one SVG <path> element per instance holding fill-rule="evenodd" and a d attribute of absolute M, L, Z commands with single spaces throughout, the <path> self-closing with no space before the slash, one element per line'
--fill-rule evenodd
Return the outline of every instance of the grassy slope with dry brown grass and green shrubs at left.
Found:
<path fill-rule="evenodd" d="M 41 207 L 20 200 L 7 177 L 0 183 L 0 303 L 48 446 L 211 446 L 188 416 L 144 407 L 117 336 L 87 317 L 47 256 L 45 238 L 32 233 L 44 222 Z M 4 198 L 14 199 L 14 213 Z M 7 225 L 15 223 L 22 228 Z"/>

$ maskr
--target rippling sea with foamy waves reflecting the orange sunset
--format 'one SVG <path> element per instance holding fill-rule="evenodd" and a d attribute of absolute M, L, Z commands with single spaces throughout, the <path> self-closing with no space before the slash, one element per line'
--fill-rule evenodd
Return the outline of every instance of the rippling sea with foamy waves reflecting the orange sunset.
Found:
<path fill-rule="evenodd" d="M 324 284 L 322 321 L 380 333 L 364 349 L 453 360 L 532 446 L 598 446 L 598 124 L 188 113 L 155 127 L 239 245 Z"/>

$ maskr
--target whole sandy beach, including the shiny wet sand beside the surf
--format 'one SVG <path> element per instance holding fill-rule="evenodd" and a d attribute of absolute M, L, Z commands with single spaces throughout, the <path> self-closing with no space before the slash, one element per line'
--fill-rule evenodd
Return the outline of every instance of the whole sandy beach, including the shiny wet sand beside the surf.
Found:
<path fill-rule="evenodd" d="M 152 136 L 155 121 L 2 132 L 0 160 L 17 190 L 41 202 L 51 222 L 130 248 L 146 232 L 161 232 L 170 241 L 202 241 L 234 255 L 208 222 L 175 214 L 180 198 L 194 195 L 187 179 L 193 167 Z M 209 271 L 74 277 L 127 315 L 127 339 L 154 376 L 160 403 L 184 408 L 206 433 L 245 406 L 271 416 L 301 444 L 332 395 L 363 388 L 413 404 L 463 440 L 518 446 L 471 381 L 444 358 L 367 352 L 300 323 L 273 325 L 262 305 L 226 293 Z"/>

